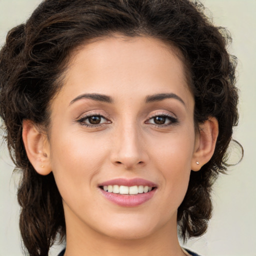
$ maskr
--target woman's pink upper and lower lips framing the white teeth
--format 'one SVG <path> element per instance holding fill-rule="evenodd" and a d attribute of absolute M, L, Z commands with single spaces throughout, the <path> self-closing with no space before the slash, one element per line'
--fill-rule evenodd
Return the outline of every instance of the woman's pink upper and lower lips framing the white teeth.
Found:
<path fill-rule="evenodd" d="M 111 180 L 107 180 L 103 183 L 100 183 L 99 186 L 104 185 L 123 185 L 123 186 L 134 186 L 134 185 L 143 185 L 143 186 L 151 186 L 154 187 L 150 192 L 147 193 L 138 193 L 134 195 L 128 194 L 116 194 L 116 193 L 109 193 L 104 191 L 103 189 L 99 189 L 102 195 L 109 201 L 123 207 L 135 207 L 138 206 L 146 201 L 148 201 L 154 195 L 156 189 L 156 184 L 143 179 L 143 178 L 132 178 L 132 179 L 125 179 L 125 178 L 115 178 Z"/>

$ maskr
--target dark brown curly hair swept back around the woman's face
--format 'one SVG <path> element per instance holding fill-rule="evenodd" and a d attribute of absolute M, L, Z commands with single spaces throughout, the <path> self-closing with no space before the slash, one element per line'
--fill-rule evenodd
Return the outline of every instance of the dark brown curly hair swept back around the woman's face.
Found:
<path fill-rule="evenodd" d="M 27 158 L 22 120 L 47 127 L 49 102 L 61 87 L 72 51 L 113 33 L 151 36 L 175 46 L 194 95 L 195 125 L 210 116 L 218 121 L 214 154 L 199 171 L 191 171 L 177 214 L 183 239 L 206 231 L 211 187 L 226 170 L 226 150 L 238 121 L 238 96 L 236 59 L 226 50 L 229 33 L 203 11 L 189 0 L 44 0 L 24 24 L 8 32 L 0 51 L 0 116 L 12 160 L 22 172 L 19 226 L 29 255 L 46 256 L 56 236 L 65 236 L 65 221 L 52 173 L 39 175 Z"/>

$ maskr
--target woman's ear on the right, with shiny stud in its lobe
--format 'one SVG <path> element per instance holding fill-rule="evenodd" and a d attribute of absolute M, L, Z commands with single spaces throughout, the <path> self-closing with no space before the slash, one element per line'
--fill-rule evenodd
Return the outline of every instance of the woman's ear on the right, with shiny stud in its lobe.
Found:
<path fill-rule="evenodd" d="M 199 132 L 195 138 L 195 148 L 191 159 L 191 170 L 197 171 L 208 162 L 214 153 L 218 136 L 218 121 L 215 117 L 209 117 L 199 124 Z"/>

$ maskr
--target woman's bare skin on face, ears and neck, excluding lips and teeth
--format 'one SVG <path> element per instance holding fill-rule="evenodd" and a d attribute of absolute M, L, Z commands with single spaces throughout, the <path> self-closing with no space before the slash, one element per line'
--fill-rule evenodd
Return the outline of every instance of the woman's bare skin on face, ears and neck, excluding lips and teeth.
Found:
<path fill-rule="evenodd" d="M 195 132 L 184 73 L 175 49 L 157 39 L 103 38 L 73 54 L 51 103 L 47 137 L 23 122 L 31 163 L 40 174 L 53 172 L 63 198 L 65 256 L 185 254 L 177 239 L 177 208 L 191 169 L 200 168 L 195 162 L 201 165 L 213 153 L 217 123 L 211 119 Z M 176 96 L 145 102 L 157 93 Z M 100 123 L 91 124 L 86 115 Z M 157 125 L 154 117 L 162 115 L 171 118 Z M 141 205 L 119 206 L 98 185 L 120 177 L 144 178 L 157 188 Z"/>

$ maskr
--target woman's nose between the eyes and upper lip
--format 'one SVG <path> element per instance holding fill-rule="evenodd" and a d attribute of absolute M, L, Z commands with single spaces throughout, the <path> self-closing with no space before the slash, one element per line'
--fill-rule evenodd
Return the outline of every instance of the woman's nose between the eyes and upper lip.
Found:
<path fill-rule="evenodd" d="M 114 165 L 134 169 L 147 163 L 145 141 L 135 124 L 119 127 L 112 138 L 111 162 Z"/>

